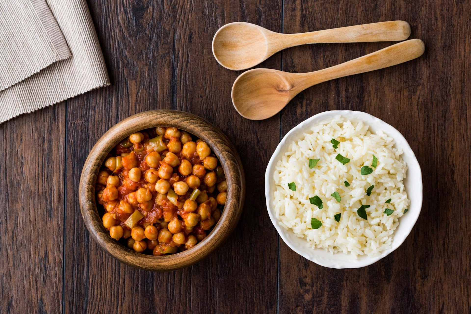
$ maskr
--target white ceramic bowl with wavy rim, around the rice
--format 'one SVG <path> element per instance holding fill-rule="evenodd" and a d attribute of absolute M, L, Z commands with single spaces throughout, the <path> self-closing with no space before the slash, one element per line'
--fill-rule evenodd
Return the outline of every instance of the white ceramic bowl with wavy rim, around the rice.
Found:
<path fill-rule="evenodd" d="M 291 230 L 286 230 L 279 224 L 279 221 L 276 219 L 275 210 L 272 206 L 273 193 L 275 191 L 275 182 L 273 180 L 275 165 L 277 161 L 281 160 L 281 157 L 286 152 L 288 145 L 293 141 L 300 139 L 303 133 L 305 131 L 309 131 L 311 127 L 321 122 L 331 120 L 334 116 L 338 115 L 355 122 L 363 121 L 366 125 L 369 125 L 371 131 L 376 132 L 378 130 L 382 130 L 385 134 L 394 138 L 396 147 L 401 147 L 403 149 L 404 153 L 401 156 L 408 166 L 404 185 L 406 187 L 407 196 L 411 201 L 409 211 L 399 220 L 400 223 L 398 228 L 394 231 L 391 248 L 389 250 L 382 251 L 381 255 L 374 258 L 370 258 L 365 255 L 355 258 L 350 254 L 332 254 L 324 249 L 313 249 L 309 247 L 308 242 L 305 239 L 295 236 Z M 268 162 L 267 171 L 265 173 L 265 197 L 267 200 L 268 215 L 270 216 L 271 222 L 275 226 L 276 231 L 278 231 L 278 234 L 281 236 L 284 243 L 286 243 L 293 251 L 321 266 L 331 268 L 358 268 L 371 265 L 387 256 L 389 253 L 396 250 L 404 240 L 406 240 L 406 237 L 411 232 L 412 227 L 414 227 L 422 208 L 422 172 L 419 162 L 415 158 L 414 152 L 406 139 L 397 129 L 394 129 L 388 123 L 372 116 L 371 114 L 361 111 L 326 111 L 318 113 L 295 126 L 283 137 L 280 144 L 278 144 L 275 153 L 273 153 Z"/>

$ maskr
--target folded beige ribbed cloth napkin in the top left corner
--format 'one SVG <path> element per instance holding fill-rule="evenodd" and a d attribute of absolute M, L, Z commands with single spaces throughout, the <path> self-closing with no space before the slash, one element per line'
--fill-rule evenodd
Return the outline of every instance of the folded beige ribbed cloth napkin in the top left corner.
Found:
<path fill-rule="evenodd" d="M 0 0 L 0 123 L 106 85 L 85 0 Z"/>

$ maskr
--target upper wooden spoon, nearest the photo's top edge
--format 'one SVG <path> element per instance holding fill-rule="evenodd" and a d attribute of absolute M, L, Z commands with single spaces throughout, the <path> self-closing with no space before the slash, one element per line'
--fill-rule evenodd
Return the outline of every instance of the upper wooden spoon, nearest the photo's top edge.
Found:
<path fill-rule="evenodd" d="M 212 40 L 212 53 L 229 70 L 245 70 L 268 59 L 285 48 L 327 42 L 365 42 L 405 40 L 411 33 L 405 21 L 333 28 L 317 32 L 281 34 L 259 25 L 235 22 L 216 32 Z"/>

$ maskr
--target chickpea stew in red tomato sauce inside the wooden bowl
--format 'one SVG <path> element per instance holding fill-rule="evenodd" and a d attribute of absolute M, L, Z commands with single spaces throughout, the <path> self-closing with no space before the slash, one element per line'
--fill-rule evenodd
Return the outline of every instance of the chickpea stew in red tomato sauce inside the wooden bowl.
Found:
<path fill-rule="evenodd" d="M 133 133 L 97 175 L 97 202 L 110 236 L 138 253 L 189 250 L 219 221 L 227 182 L 201 139 L 177 128 Z"/>

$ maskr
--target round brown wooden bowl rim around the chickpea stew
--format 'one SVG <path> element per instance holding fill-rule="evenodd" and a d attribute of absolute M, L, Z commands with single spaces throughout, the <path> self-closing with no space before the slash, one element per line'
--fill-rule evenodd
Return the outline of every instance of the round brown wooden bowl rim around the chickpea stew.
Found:
<path fill-rule="evenodd" d="M 106 155 L 123 138 L 147 128 L 176 127 L 206 142 L 219 158 L 227 180 L 227 201 L 218 223 L 209 235 L 191 250 L 173 255 L 150 256 L 130 250 L 109 236 L 98 215 L 95 199 L 97 173 Z M 244 206 L 245 178 L 235 147 L 214 125 L 191 113 L 152 110 L 138 113 L 117 123 L 93 146 L 80 177 L 79 198 L 83 221 L 92 237 L 109 254 L 140 269 L 168 271 L 190 266 L 209 255 L 224 242 L 239 221 Z"/>

